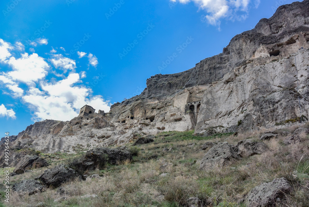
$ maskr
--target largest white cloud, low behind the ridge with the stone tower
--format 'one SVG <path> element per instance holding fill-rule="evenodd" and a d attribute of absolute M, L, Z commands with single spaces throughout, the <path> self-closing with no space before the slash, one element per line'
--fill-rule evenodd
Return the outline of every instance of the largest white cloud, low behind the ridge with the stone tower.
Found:
<path fill-rule="evenodd" d="M 71 120 L 86 104 L 97 108 L 97 110 L 110 110 L 108 102 L 104 101 L 101 96 L 91 96 L 91 89 L 76 86 L 77 83 L 80 83 L 79 75 L 71 73 L 66 79 L 56 83 L 42 83 L 42 91 L 37 88 L 29 90 L 23 100 L 33 106 L 35 121 L 44 119 Z"/>

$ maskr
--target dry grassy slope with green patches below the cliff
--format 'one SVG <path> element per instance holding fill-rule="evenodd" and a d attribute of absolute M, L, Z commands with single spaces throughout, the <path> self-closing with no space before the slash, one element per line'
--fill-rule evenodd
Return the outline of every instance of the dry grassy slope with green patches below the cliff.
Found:
<path fill-rule="evenodd" d="M 293 132 L 296 128 L 288 129 Z M 280 133 L 280 131 L 279 131 Z M 239 162 L 209 172 L 199 170 L 199 160 L 207 150 L 201 145 L 207 141 L 237 144 L 239 140 L 253 138 L 258 140 L 260 132 L 249 132 L 234 136 L 219 134 L 211 137 L 193 136 L 189 132 L 163 132 L 156 136 L 155 142 L 138 147 L 127 147 L 138 154 L 133 162 L 118 166 L 106 166 L 103 170 L 86 172 L 99 174 L 99 179 L 86 181 L 73 180 L 61 187 L 67 192 L 67 199 L 54 202 L 62 197 L 57 189 L 43 193 L 19 197 L 11 193 L 8 206 L 185 206 L 189 197 L 200 198 L 205 206 L 244 206 L 243 197 L 251 188 L 274 178 L 285 177 L 293 186 L 293 192 L 278 206 L 308 206 L 309 203 L 309 153 L 308 136 L 299 145 L 285 146 L 284 137 L 265 141 L 269 152 L 252 157 L 243 157 Z M 188 147 L 195 143 L 193 147 Z M 164 148 L 171 151 L 162 152 Z M 157 155 L 156 159 L 150 156 Z M 63 163 L 74 155 L 66 153 L 43 154 L 52 167 Z M 303 157 L 303 158 L 301 158 Z M 165 163 L 169 163 L 162 169 Z M 233 168 L 232 168 L 233 167 Z M 234 169 L 235 168 L 235 169 Z M 11 178 L 12 183 L 23 179 L 33 179 L 44 169 Z M 160 176 L 168 173 L 166 176 Z M 3 175 L 0 173 L 2 179 Z M 96 194 L 96 198 L 81 198 L 83 195 Z M 3 198 L 1 198 L 3 200 Z M 239 204 L 238 204 L 239 203 Z M 1 205 L 0 205 L 1 206 Z"/>

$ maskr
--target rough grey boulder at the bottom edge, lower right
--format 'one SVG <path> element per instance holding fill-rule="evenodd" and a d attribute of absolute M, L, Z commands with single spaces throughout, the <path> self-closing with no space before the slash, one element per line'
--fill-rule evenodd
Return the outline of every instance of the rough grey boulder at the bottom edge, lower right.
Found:
<path fill-rule="evenodd" d="M 250 207 L 275 206 L 277 198 L 284 198 L 290 191 L 291 186 L 285 178 L 274 179 L 253 188 L 248 193 L 245 204 Z"/>

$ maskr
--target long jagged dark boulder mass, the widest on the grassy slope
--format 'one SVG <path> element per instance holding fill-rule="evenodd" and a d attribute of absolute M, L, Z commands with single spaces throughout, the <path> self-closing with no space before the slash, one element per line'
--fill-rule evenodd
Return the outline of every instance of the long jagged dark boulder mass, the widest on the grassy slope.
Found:
<path fill-rule="evenodd" d="M 116 165 L 119 161 L 132 160 L 128 150 L 96 148 L 87 151 L 85 156 L 78 160 L 77 166 L 81 171 L 94 170 L 96 167 L 102 169 L 106 162 Z"/>

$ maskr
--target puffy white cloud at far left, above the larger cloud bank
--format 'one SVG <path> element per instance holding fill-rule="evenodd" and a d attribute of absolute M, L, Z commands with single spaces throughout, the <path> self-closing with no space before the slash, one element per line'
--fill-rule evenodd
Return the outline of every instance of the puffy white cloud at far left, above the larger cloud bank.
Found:
<path fill-rule="evenodd" d="M 9 76 L 11 80 L 21 81 L 26 84 L 32 84 L 44 78 L 49 69 L 49 65 L 44 61 L 44 58 L 39 57 L 36 53 L 31 55 L 24 53 L 18 59 L 11 57 L 8 63 L 13 68 L 13 71 L 7 72 L 6 76 Z"/>

